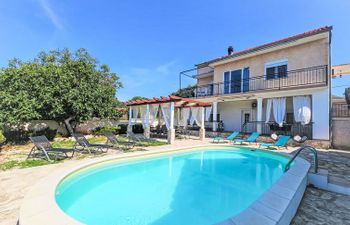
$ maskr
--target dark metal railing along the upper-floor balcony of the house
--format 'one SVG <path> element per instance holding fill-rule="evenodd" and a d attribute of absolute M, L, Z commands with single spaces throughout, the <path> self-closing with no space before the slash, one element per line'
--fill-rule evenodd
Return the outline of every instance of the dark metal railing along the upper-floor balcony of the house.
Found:
<path fill-rule="evenodd" d="M 213 83 L 193 88 L 194 97 L 218 96 L 235 93 L 248 93 L 262 90 L 285 90 L 310 86 L 327 85 L 327 65 L 290 70 L 283 76 L 276 74 L 269 79 L 266 75 L 250 76 L 248 79 L 235 79 L 229 82 Z"/>

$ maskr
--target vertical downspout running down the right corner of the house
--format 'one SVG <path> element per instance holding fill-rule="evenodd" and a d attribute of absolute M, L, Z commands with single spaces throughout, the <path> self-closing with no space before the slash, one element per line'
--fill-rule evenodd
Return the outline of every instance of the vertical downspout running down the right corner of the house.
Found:
<path fill-rule="evenodd" d="M 332 29 L 331 26 L 328 31 L 328 87 L 329 87 L 329 140 L 330 140 L 330 147 L 333 148 L 333 120 L 332 120 L 332 111 L 333 111 L 333 101 L 332 101 Z"/>

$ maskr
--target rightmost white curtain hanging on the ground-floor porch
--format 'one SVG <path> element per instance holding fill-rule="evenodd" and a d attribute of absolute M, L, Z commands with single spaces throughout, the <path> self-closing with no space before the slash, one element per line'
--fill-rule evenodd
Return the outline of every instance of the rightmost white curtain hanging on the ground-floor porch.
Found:
<path fill-rule="evenodd" d="M 311 121 L 311 98 L 310 96 L 293 97 L 294 119 L 302 125 Z"/>

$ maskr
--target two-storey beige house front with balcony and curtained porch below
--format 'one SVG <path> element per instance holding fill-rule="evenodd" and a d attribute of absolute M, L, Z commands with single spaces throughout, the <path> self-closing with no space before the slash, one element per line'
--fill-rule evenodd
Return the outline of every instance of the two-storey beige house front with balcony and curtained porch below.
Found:
<path fill-rule="evenodd" d="M 330 140 L 331 31 L 321 27 L 196 65 L 206 128 Z"/>

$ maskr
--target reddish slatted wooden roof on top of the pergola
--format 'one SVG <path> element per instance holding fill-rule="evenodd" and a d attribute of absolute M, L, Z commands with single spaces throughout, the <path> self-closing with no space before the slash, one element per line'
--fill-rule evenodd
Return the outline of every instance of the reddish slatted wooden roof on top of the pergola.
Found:
<path fill-rule="evenodd" d="M 159 104 L 159 103 L 167 103 L 167 102 L 175 102 L 175 107 L 208 107 L 211 106 L 210 103 L 201 102 L 197 100 L 193 100 L 190 98 L 182 98 L 179 96 L 171 95 L 168 97 L 161 96 L 160 98 L 149 98 L 142 99 L 130 102 L 124 102 L 127 106 L 134 105 L 147 105 L 147 104 Z"/>

